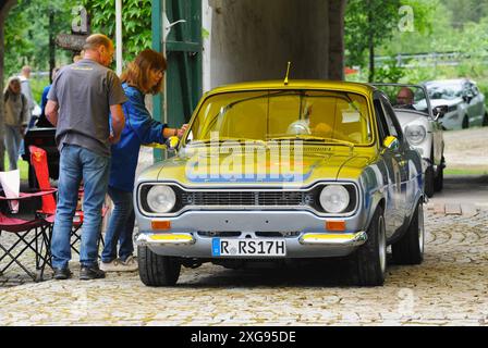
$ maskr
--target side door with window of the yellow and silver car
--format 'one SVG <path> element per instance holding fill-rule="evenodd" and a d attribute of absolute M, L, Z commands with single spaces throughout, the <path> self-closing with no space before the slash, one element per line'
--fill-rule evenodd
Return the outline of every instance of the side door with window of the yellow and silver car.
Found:
<path fill-rule="evenodd" d="M 402 226 L 404 220 L 404 203 L 402 192 L 402 161 L 403 158 L 399 156 L 399 151 L 389 149 L 383 146 L 383 140 L 388 136 L 398 137 L 398 130 L 394 126 L 390 126 L 386 116 L 386 111 L 381 102 L 381 97 L 378 95 L 374 99 L 375 111 L 377 114 L 378 128 L 380 134 L 381 157 L 387 170 L 386 184 L 386 208 L 385 222 L 387 227 L 387 237 L 390 238 L 399 227 Z"/>

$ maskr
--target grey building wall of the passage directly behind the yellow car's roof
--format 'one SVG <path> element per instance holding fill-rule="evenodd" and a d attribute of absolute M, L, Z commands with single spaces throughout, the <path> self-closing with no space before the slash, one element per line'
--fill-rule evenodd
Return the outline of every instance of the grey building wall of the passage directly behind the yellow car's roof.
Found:
<path fill-rule="evenodd" d="M 288 61 L 291 78 L 341 78 L 343 16 L 330 18 L 338 3 L 345 1 L 204 0 L 204 90 L 284 78 Z"/>

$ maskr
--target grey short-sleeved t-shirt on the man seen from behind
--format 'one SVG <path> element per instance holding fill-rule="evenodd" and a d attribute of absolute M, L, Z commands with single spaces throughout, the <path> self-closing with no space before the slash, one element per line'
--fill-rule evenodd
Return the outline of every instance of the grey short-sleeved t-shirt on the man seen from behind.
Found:
<path fill-rule="evenodd" d="M 110 156 L 110 105 L 127 100 L 113 71 L 88 59 L 64 66 L 48 99 L 59 104 L 56 141 L 60 151 L 70 144 Z"/>

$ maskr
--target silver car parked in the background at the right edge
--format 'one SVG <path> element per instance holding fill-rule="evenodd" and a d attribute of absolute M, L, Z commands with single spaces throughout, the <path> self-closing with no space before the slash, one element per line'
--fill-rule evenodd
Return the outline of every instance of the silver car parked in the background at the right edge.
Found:
<path fill-rule="evenodd" d="M 469 126 L 488 126 L 485 96 L 476 83 L 467 78 L 441 79 L 425 83 L 434 108 L 448 105 L 440 117 L 444 129 L 461 129 Z"/>

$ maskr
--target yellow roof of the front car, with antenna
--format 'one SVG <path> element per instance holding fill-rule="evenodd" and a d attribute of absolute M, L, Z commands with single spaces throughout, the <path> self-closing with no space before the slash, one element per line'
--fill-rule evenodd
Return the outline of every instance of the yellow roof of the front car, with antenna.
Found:
<path fill-rule="evenodd" d="M 376 90 L 375 87 L 349 82 L 321 80 L 321 79 L 291 79 L 288 85 L 283 80 L 258 80 L 232 84 L 217 87 L 208 92 L 216 95 L 221 92 L 241 91 L 241 90 L 263 90 L 263 89 L 325 89 L 358 92 L 369 95 Z"/>

